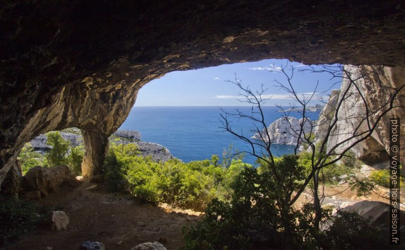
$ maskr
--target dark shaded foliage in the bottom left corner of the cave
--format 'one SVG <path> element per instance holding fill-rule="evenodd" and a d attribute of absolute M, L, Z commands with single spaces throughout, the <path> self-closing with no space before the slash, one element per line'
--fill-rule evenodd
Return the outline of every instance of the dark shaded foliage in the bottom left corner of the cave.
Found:
<path fill-rule="evenodd" d="M 27 201 L 0 197 L 0 248 L 39 225 L 48 212 L 46 208 Z"/>

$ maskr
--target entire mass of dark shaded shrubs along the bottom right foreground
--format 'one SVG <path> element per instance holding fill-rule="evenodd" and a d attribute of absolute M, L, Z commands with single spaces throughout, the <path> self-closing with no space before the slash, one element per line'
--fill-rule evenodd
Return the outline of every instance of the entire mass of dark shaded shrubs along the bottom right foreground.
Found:
<path fill-rule="evenodd" d="M 277 166 L 293 163 L 289 155 L 278 158 Z M 304 168 L 286 169 L 289 183 L 302 180 Z M 322 209 L 322 220 L 333 220 L 325 231 L 314 221 L 314 205 L 301 209 L 283 204 L 285 192 L 274 189 L 274 175 L 269 171 L 244 168 L 234 178 L 230 202 L 213 199 L 205 216 L 196 224 L 183 228 L 183 249 L 370 249 L 384 242 L 368 220 L 357 213 L 339 211 L 330 217 Z M 288 182 L 286 182 L 288 183 Z"/>

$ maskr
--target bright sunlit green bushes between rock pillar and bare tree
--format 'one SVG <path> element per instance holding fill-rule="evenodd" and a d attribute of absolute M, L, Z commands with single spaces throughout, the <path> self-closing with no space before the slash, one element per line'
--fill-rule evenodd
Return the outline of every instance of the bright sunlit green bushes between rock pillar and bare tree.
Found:
<path fill-rule="evenodd" d="M 211 162 L 183 163 L 172 159 L 156 163 L 138 155 L 136 144 L 112 145 L 104 163 L 107 183 L 114 191 L 125 189 L 142 201 L 165 202 L 203 210 L 215 197 L 230 199 L 230 183 L 243 168 L 251 165 L 232 160 L 229 168 Z"/>

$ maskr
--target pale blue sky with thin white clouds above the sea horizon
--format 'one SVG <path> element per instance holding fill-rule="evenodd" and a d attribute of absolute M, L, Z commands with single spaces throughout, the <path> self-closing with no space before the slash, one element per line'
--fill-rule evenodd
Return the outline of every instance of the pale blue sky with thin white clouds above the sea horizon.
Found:
<path fill-rule="evenodd" d="M 256 62 L 243 62 L 238 64 L 221 65 L 199 70 L 175 71 L 150 81 L 138 93 L 135 106 L 241 106 L 239 102 L 239 89 L 225 80 L 234 80 L 236 76 L 252 90 L 260 89 L 263 83 L 268 91 L 267 105 L 283 105 L 293 103 L 287 92 L 276 87 L 274 79 L 286 83 L 285 76 L 279 72 L 280 67 L 286 64 L 296 67 L 292 79 L 296 92 L 303 95 L 313 92 L 316 82 L 319 81 L 317 96 L 327 101 L 327 94 L 336 79 L 330 79 L 327 73 L 298 72 L 308 68 L 298 62 L 288 60 L 267 59 Z M 317 68 L 319 66 L 315 66 Z M 340 83 L 332 89 L 340 88 Z M 312 104 L 319 103 L 315 98 Z"/>

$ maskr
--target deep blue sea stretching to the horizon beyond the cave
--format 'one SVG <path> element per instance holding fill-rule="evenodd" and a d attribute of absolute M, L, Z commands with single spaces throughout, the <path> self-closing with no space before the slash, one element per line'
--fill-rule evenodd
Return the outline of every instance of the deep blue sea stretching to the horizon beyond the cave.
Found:
<path fill-rule="evenodd" d="M 235 111 L 236 107 L 222 107 L 227 112 Z M 238 107 L 244 113 L 250 112 L 247 106 Z M 265 106 L 266 124 L 270 124 L 281 117 L 279 108 Z M 249 150 L 249 146 L 237 139 L 229 132 L 219 127 L 222 111 L 215 106 L 134 106 L 120 129 L 138 130 L 142 141 L 155 142 L 167 147 L 172 155 L 183 162 L 211 159 L 211 155 L 218 154 L 222 159 L 222 152 L 231 144 L 240 151 Z M 297 112 L 290 116 L 300 118 Z M 318 119 L 319 112 L 310 113 L 312 120 Z M 233 129 L 243 131 L 247 137 L 253 135 L 249 130 L 255 129 L 254 123 L 246 119 L 232 119 Z M 259 127 L 260 128 L 260 127 Z M 282 155 L 294 152 L 294 146 L 273 144 L 272 152 Z M 256 159 L 246 155 L 244 162 L 254 164 Z"/>

